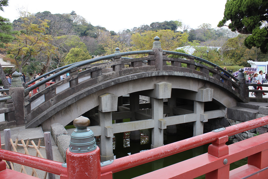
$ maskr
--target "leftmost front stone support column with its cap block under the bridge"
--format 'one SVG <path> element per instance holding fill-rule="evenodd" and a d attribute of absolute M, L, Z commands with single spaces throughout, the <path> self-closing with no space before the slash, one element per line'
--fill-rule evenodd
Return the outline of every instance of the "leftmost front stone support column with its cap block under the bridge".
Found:
<path fill-rule="evenodd" d="M 117 111 L 117 98 L 116 95 L 109 93 L 99 96 L 99 125 L 102 128 L 100 136 L 101 162 L 114 159 L 112 111 Z"/>

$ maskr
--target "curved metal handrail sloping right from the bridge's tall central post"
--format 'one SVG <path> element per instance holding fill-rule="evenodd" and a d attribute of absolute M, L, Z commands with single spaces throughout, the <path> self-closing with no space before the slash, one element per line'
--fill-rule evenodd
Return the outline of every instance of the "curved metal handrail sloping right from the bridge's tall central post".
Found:
<path fill-rule="evenodd" d="M 230 76 L 232 79 L 234 79 L 236 82 L 239 82 L 239 80 L 233 76 L 232 74 L 230 74 L 228 71 L 224 70 L 223 68 L 219 67 L 219 65 L 216 65 L 214 63 L 211 63 L 210 61 L 207 61 L 205 59 L 202 59 L 200 57 L 196 57 L 196 56 L 193 56 L 193 55 L 189 55 L 189 54 L 185 54 L 185 53 L 180 53 L 180 52 L 173 52 L 173 51 L 167 51 L 167 50 L 163 50 L 163 52 L 166 52 L 166 54 L 171 54 L 171 55 L 179 55 L 179 56 L 183 56 L 183 57 L 188 57 L 188 58 L 193 58 L 195 60 L 199 60 L 199 61 L 202 61 L 206 64 L 209 64 L 213 67 L 218 67 L 219 70 L 221 70 L 222 72 L 224 72 L 225 74 L 227 74 L 228 76 Z"/>

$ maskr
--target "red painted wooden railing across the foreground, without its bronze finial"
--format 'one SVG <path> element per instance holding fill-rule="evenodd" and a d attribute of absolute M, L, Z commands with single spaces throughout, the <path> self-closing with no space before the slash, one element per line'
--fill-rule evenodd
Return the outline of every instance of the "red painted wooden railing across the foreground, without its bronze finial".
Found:
<path fill-rule="evenodd" d="M 268 124 L 268 116 L 226 127 L 219 132 L 209 132 L 155 149 L 140 152 L 113 163 L 100 166 L 99 148 L 88 153 L 73 153 L 67 149 L 67 168 L 61 163 L 38 157 L 18 154 L 0 149 L 0 159 L 48 171 L 63 178 L 101 178 L 111 179 L 112 173 L 143 163 L 198 147 L 209 145 L 208 153 L 176 163 L 174 165 L 136 177 L 141 178 L 195 178 L 206 174 L 207 179 L 215 178 L 268 178 L 268 133 L 255 136 L 235 144 L 226 145 L 228 136 Z M 248 164 L 229 171 L 230 163 L 248 157 Z M 0 176 L 3 166 L 0 161 Z M 6 169 L 8 170 L 8 169 Z M 22 173 L 21 173 L 22 174 Z M 22 174 L 24 175 L 24 174 Z M 1 178 L 2 179 L 2 178 Z"/>

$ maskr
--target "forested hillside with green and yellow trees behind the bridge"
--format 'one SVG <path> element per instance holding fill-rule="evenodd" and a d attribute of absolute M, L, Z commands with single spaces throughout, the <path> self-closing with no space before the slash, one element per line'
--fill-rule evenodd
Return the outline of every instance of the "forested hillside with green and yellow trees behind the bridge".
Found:
<path fill-rule="evenodd" d="M 0 17 L 0 21 L 0 52 L 24 73 L 45 73 L 66 64 L 112 54 L 117 47 L 121 52 L 148 50 L 155 36 L 159 36 L 163 50 L 192 47 L 193 55 L 221 66 L 246 67 L 247 60 L 268 60 L 259 48 L 248 49 L 244 45 L 248 35 L 226 28 L 213 29 L 205 23 L 192 29 L 175 20 L 152 22 L 115 32 L 93 26 L 75 11 L 65 14 L 20 11 L 17 20 L 9 22 Z"/>

